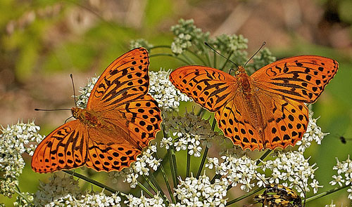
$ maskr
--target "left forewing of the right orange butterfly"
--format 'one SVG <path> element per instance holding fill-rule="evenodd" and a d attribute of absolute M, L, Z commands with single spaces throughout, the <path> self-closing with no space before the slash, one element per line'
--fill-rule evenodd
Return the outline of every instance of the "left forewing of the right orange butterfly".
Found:
<path fill-rule="evenodd" d="M 237 80 L 219 69 L 200 65 L 179 67 L 170 74 L 170 81 L 182 93 L 210 112 L 215 112 L 234 98 Z"/>

